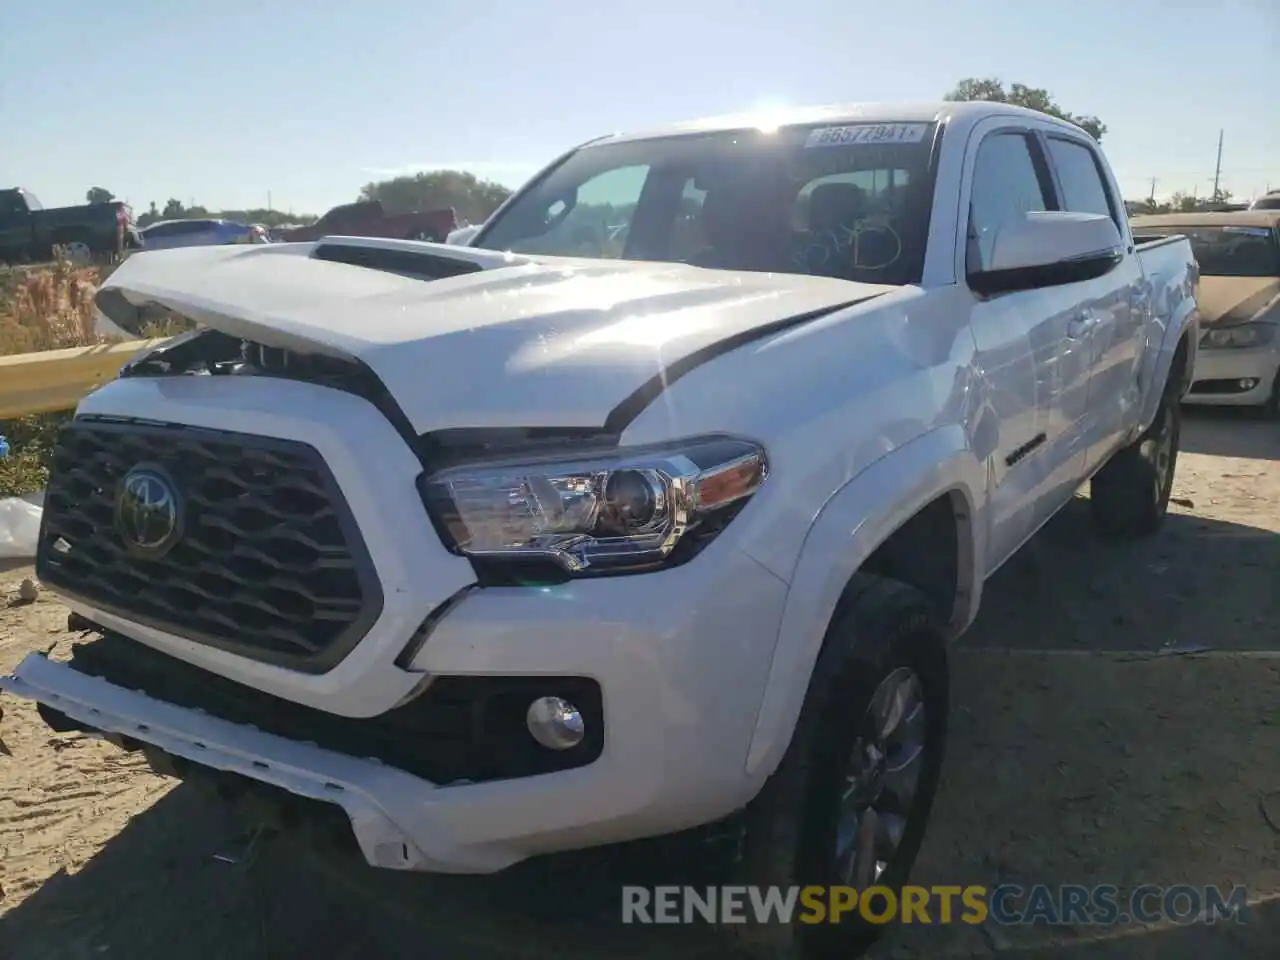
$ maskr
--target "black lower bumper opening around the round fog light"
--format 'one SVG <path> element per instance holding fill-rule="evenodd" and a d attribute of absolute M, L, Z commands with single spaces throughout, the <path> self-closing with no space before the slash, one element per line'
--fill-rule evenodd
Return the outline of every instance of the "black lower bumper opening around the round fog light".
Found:
<path fill-rule="evenodd" d="M 582 767 L 604 748 L 600 686 L 586 677 L 436 677 L 379 717 L 352 719 L 282 700 L 116 634 L 76 644 L 73 669 L 262 732 L 375 758 L 433 783 L 483 782 Z M 582 713 L 586 736 L 570 750 L 540 746 L 525 727 L 538 696 Z"/>

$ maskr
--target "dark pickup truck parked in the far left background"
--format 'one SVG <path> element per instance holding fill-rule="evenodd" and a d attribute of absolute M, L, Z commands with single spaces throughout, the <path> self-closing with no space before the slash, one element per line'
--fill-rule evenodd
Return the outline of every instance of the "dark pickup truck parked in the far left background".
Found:
<path fill-rule="evenodd" d="M 82 265 L 141 246 L 128 204 L 113 200 L 45 210 L 31 191 L 0 189 L 0 261 L 49 260 L 54 247 L 61 247 L 68 260 Z"/>

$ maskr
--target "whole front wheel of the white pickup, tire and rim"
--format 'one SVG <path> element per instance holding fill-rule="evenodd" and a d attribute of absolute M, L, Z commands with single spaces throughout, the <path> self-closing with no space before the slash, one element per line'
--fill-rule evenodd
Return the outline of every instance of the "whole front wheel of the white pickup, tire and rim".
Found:
<path fill-rule="evenodd" d="M 746 810 L 735 882 L 868 887 L 901 900 L 942 768 L 948 676 L 942 631 L 911 588 L 859 573 L 814 667 L 790 748 Z M 765 891 L 762 891 L 762 893 Z M 883 918 L 888 900 L 868 904 Z M 829 900 L 827 901 L 829 904 Z M 749 945 L 851 957 L 884 931 L 840 923 L 745 924 Z"/>

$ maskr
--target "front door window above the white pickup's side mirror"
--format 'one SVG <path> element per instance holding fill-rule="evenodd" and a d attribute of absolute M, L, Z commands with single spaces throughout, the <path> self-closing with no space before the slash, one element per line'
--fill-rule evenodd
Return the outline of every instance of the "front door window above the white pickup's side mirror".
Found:
<path fill-rule="evenodd" d="M 1048 210 L 1051 193 L 1027 133 L 992 133 L 978 147 L 969 197 L 968 269 L 986 269 L 1001 225 Z"/>

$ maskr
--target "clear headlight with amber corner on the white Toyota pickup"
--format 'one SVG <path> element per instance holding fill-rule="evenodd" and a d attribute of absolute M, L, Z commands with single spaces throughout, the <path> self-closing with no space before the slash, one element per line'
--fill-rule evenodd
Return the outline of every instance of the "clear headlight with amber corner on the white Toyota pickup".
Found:
<path fill-rule="evenodd" d="M 652 567 L 727 520 L 768 474 L 764 449 L 705 438 L 564 460 L 452 467 L 424 499 L 453 550 L 571 573 Z"/>

